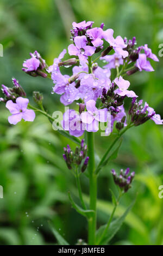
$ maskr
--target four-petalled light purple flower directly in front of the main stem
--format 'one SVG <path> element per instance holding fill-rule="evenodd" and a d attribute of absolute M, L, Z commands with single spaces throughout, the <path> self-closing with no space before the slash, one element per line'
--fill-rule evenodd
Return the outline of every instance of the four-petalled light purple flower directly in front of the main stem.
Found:
<path fill-rule="evenodd" d="M 107 121 L 107 108 L 97 109 L 96 101 L 89 100 L 86 102 L 87 112 L 80 114 L 83 123 L 86 124 L 86 131 L 97 132 L 98 122 Z"/>

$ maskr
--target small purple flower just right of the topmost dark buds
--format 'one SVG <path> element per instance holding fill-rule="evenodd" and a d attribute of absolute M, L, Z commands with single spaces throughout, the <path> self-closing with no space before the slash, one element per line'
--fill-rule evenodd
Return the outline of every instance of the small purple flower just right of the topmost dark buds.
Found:
<path fill-rule="evenodd" d="M 98 47 L 103 45 L 103 29 L 102 28 L 91 28 L 88 29 L 86 34 L 91 39 L 93 46 Z"/>

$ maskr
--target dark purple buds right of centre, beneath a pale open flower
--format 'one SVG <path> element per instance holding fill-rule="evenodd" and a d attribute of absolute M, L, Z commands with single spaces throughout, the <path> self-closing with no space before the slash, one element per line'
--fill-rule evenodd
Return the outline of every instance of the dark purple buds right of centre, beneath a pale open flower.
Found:
<path fill-rule="evenodd" d="M 103 107 L 108 108 L 108 110 L 111 111 L 111 113 L 120 112 L 120 109 L 118 107 L 123 105 L 123 100 L 126 97 L 126 95 L 120 96 L 118 94 L 115 94 L 114 93 L 115 87 L 116 87 L 115 83 L 111 83 L 111 86 L 108 92 L 106 91 L 105 88 L 103 88 L 103 92 L 101 96 Z"/>

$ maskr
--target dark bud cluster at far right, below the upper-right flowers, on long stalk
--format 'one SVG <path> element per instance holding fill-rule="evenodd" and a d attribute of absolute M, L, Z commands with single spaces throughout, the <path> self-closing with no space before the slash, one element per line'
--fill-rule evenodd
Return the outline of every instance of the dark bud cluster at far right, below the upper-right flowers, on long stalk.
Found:
<path fill-rule="evenodd" d="M 131 122 L 134 123 L 134 126 L 145 123 L 147 120 L 151 119 L 153 115 L 155 115 L 155 111 L 148 111 L 149 105 L 147 102 L 145 102 L 144 106 L 142 106 L 142 103 L 142 100 L 137 102 L 136 97 L 134 97 L 131 102 L 128 113 L 131 117 Z"/>

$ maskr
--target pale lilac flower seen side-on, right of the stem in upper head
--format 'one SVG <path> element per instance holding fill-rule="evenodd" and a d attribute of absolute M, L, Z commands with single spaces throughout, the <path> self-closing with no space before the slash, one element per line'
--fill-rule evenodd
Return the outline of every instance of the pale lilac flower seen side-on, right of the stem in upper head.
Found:
<path fill-rule="evenodd" d="M 106 55 L 104 57 L 101 57 L 100 59 L 105 60 L 106 62 L 109 62 L 103 68 L 108 69 L 115 69 L 117 66 L 123 65 L 123 58 L 122 55 L 114 53 L 112 55 Z"/>

